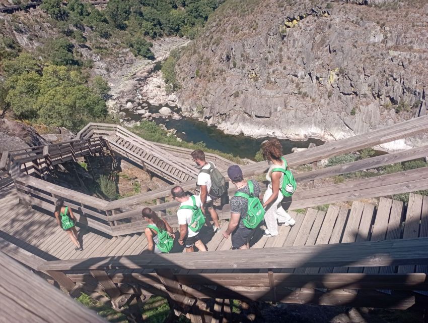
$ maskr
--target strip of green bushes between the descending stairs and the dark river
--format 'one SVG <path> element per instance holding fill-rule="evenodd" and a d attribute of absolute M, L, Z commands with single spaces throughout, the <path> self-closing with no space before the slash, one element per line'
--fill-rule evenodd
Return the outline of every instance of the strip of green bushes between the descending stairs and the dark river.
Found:
<path fill-rule="evenodd" d="M 175 137 L 167 136 L 168 131 L 162 129 L 156 123 L 148 120 L 140 121 L 138 126 L 134 126 L 129 130 L 137 134 L 141 138 L 144 138 L 149 141 L 160 142 L 171 146 L 178 146 L 178 147 L 184 147 L 189 149 L 202 149 L 205 152 L 218 154 L 219 156 L 229 159 L 234 163 L 237 163 L 237 164 L 241 163 L 241 159 L 239 157 L 235 157 L 232 154 L 224 153 L 219 150 L 208 149 L 205 147 L 205 143 L 203 142 L 197 142 L 197 143 L 186 142 L 186 141 L 179 142 L 176 140 Z"/>

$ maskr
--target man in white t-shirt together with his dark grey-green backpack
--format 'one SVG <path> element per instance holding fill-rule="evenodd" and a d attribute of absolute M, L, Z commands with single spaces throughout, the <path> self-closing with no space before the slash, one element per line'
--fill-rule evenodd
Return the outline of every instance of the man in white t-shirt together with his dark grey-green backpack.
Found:
<path fill-rule="evenodd" d="M 202 150 L 196 149 L 190 154 L 197 166 L 201 167 L 198 174 L 197 185 L 200 186 L 201 209 L 205 214 L 205 208 L 208 208 L 211 215 L 212 230 L 216 232 L 219 228 L 219 215 L 213 205 L 213 200 L 221 197 L 226 190 L 226 184 L 223 175 L 217 170 L 214 163 L 205 161 L 205 154 Z M 223 180 L 223 181 L 222 181 Z"/>

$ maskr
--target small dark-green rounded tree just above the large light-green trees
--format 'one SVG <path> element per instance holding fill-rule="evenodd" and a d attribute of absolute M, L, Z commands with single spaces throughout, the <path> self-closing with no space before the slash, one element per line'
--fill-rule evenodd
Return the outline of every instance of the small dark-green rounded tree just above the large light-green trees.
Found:
<path fill-rule="evenodd" d="M 50 39 L 43 47 L 49 61 L 58 66 L 81 65 L 73 55 L 75 46 L 67 38 Z"/>

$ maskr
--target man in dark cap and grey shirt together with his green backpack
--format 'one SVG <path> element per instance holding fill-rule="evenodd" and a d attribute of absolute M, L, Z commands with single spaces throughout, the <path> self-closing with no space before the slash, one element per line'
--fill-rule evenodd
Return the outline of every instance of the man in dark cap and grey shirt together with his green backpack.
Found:
<path fill-rule="evenodd" d="M 231 217 L 223 236 L 227 239 L 232 234 L 234 249 L 249 249 L 254 229 L 265 213 L 259 200 L 260 185 L 255 180 L 245 181 L 238 165 L 229 167 L 228 176 L 238 190 L 230 199 Z"/>

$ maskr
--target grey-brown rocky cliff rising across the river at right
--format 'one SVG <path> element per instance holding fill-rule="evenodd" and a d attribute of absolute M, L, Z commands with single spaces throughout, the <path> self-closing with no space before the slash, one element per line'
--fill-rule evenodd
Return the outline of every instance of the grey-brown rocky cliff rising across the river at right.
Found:
<path fill-rule="evenodd" d="M 425 0 L 229 0 L 183 51 L 179 105 L 227 133 L 295 140 L 426 114 L 426 13 Z"/>

